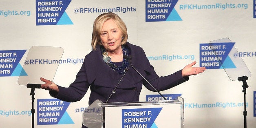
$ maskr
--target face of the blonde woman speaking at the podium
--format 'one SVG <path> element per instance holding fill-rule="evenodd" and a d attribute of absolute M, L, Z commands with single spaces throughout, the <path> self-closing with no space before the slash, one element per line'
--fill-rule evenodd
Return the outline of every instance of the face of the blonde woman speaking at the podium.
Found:
<path fill-rule="evenodd" d="M 121 49 L 121 30 L 112 19 L 104 22 L 100 34 L 100 40 L 106 51 L 117 52 Z"/>

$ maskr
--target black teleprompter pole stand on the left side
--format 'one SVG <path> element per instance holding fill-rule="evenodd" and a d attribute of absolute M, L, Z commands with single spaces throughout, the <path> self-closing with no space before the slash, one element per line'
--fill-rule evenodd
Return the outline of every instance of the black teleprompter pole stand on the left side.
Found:
<path fill-rule="evenodd" d="M 34 109 L 34 100 L 35 100 L 35 88 L 41 88 L 41 84 L 27 84 L 27 88 L 31 88 L 30 95 L 32 100 L 32 128 L 35 128 L 35 109 Z"/>

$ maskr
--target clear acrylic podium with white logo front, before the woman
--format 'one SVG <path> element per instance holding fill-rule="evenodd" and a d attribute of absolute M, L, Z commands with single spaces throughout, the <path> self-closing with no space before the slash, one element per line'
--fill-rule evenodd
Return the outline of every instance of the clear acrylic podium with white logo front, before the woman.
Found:
<path fill-rule="evenodd" d="M 96 100 L 83 113 L 88 128 L 184 128 L 184 99 L 103 103 Z"/>

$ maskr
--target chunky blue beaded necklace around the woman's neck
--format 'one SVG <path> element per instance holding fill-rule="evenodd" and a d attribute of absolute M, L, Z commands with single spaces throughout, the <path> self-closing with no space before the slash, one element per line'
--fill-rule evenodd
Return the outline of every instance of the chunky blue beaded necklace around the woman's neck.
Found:
<path fill-rule="evenodd" d="M 128 55 L 129 56 L 129 52 L 126 46 L 122 45 L 121 46 L 122 51 L 123 51 L 123 55 Z M 114 71 L 117 71 L 117 73 L 119 74 L 123 74 L 126 72 L 128 66 L 129 66 L 129 62 L 127 59 L 123 58 L 123 64 L 121 66 L 117 66 L 114 62 L 111 61 L 111 58 L 108 56 L 108 53 L 106 52 L 106 49 L 101 46 L 100 47 L 102 55 L 103 55 L 103 60 L 106 64 L 108 64 L 108 66 L 110 68 L 112 68 Z"/>

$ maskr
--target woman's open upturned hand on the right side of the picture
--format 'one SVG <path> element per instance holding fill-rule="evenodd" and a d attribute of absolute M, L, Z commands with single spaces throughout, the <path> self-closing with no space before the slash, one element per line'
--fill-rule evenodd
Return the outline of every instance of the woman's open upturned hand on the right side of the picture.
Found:
<path fill-rule="evenodd" d="M 196 75 L 199 73 L 203 73 L 203 71 L 206 70 L 205 67 L 192 67 L 196 64 L 196 62 L 192 62 L 191 64 L 188 64 L 182 69 L 182 77 L 190 76 L 190 75 Z"/>

